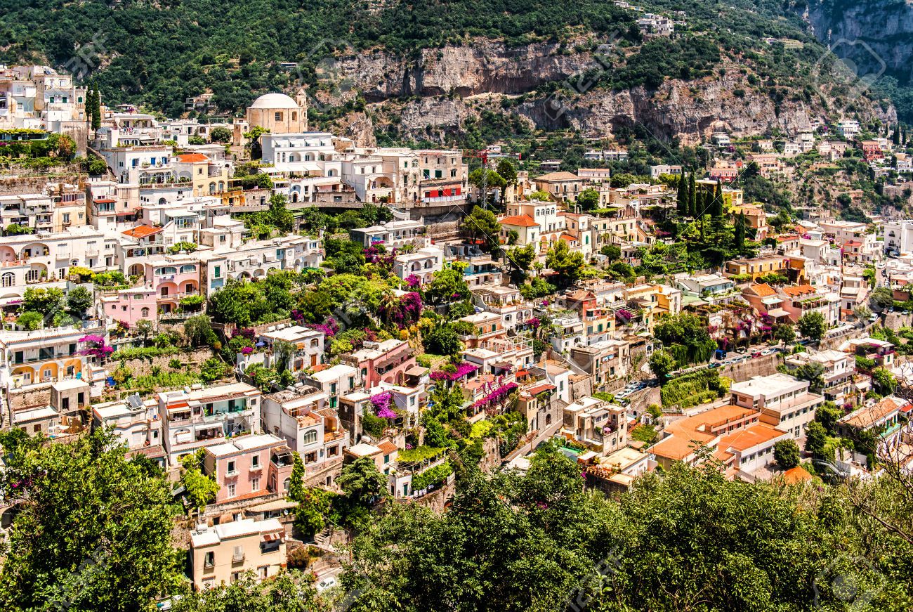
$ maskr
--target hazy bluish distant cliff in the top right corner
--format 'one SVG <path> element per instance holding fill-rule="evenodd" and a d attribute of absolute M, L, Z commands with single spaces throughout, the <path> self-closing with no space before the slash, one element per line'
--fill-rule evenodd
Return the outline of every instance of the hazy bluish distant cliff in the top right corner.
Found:
<path fill-rule="evenodd" d="M 913 58 L 913 4 L 904 0 L 816 0 L 804 18 L 814 36 L 840 58 L 853 60 L 860 77 L 882 72 L 909 82 Z"/>

